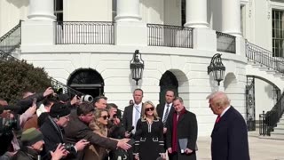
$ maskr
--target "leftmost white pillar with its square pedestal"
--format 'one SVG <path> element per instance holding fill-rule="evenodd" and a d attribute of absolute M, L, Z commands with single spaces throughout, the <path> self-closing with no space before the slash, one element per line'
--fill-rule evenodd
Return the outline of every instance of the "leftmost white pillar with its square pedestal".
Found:
<path fill-rule="evenodd" d="M 28 20 L 21 23 L 23 49 L 36 45 L 53 45 L 55 23 L 53 0 L 29 0 Z"/>

